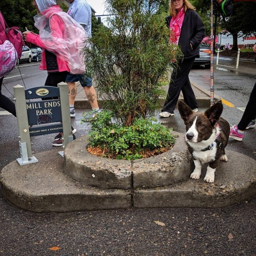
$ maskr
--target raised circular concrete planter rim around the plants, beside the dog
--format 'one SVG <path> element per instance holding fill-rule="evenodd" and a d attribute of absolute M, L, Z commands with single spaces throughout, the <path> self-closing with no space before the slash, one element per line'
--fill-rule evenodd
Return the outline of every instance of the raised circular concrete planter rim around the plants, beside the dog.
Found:
<path fill-rule="evenodd" d="M 186 180 L 193 160 L 177 135 L 172 150 L 158 156 L 128 161 L 97 157 L 87 151 L 87 136 L 70 142 L 64 151 L 65 172 L 84 185 L 105 189 L 154 188 Z"/>

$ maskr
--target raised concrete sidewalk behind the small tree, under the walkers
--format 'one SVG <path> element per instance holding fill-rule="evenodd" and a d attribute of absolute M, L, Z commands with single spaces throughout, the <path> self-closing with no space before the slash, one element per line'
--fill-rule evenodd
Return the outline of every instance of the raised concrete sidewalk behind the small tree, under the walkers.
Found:
<path fill-rule="evenodd" d="M 86 94 L 84 93 L 83 88 L 80 86 L 80 82 L 77 82 L 77 95 L 76 95 L 76 101 L 75 101 L 75 108 L 76 109 L 91 109 L 90 103 L 88 102 L 88 99 L 86 97 Z M 94 88 L 97 88 L 97 84 L 95 81 L 93 81 Z M 210 93 L 204 90 L 202 87 L 200 87 L 198 84 L 191 83 L 191 86 L 193 88 L 193 91 L 195 93 L 196 99 L 199 104 L 199 108 L 207 108 L 210 106 Z M 166 94 L 168 92 L 168 86 L 163 86 L 164 90 L 166 91 Z M 96 89 L 97 91 L 97 89 Z M 181 93 L 180 99 L 183 99 L 183 95 Z M 218 95 L 215 95 L 215 100 L 218 101 L 221 98 Z M 161 104 L 163 105 L 165 101 L 164 99 L 161 99 Z M 99 108 L 102 108 L 103 99 L 98 97 L 98 104 Z"/>

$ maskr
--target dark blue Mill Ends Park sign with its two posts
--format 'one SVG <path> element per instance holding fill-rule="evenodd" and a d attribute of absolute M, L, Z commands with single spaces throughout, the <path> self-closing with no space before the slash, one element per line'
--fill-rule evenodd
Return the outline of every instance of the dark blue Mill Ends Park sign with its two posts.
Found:
<path fill-rule="evenodd" d="M 14 86 L 15 107 L 19 130 L 20 165 L 38 162 L 32 156 L 30 137 L 62 132 L 63 147 L 73 140 L 67 83 L 58 87 L 26 89 Z M 62 156 L 63 153 L 59 152 Z"/>

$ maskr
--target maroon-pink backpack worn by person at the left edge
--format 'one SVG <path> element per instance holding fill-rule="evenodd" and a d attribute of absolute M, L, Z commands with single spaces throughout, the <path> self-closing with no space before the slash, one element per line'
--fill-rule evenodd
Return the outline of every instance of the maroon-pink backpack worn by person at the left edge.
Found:
<path fill-rule="evenodd" d="M 0 11 L 0 44 L 4 44 L 5 40 L 9 40 L 13 44 L 17 57 L 20 58 L 22 56 L 22 47 L 25 46 L 22 32 L 18 27 L 9 28 Z"/>

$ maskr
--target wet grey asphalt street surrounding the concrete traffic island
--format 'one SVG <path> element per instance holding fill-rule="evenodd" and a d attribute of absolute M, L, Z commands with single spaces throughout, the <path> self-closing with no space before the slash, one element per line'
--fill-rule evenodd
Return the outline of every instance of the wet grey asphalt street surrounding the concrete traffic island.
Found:
<path fill-rule="evenodd" d="M 216 63 L 216 61 L 215 61 Z M 215 94 L 225 100 L 223 117 L 238 124 L 256 81 L 256 62 L 221 58 L 215 66 Z M 6 79 L 2 93 L 11 99 L 12 87 L 44 84 L 47 73 L 38 63 L 24 63 Z M 20 78 L 22 74 L 23 80 Z M 210 90 L 210 70 L 195 67 L 191 83 Z M 24 81 L 24 83 L 23 83 Z M 10 92 L 8 92 L 8 90 Z M 20 156 L 15 117 L 0 109 L 0 170 Z M 77 137 L 88 133 L 90 124 L 80 124 L 83 112 L 76 110 L 72 125 Z M 199 111 L 205 109 L 199 108 Z M 1 114 L 2 113 L 2 114 Z M 157 115 L 158 116 L 158 115 Z M 178 112 L 166 124 L 183 133 Z M 50 151 L 54 134 L 32 138 L 33 153 Z M 229 140 L 227 149 L 256 160 L 255 128 L 242 142 Z M 241 159 L 243 161 L 243 159 Z M 47 159 L 46 159 L 47 162 Z M 17 169 L 18 172 L 18 169 Z M 0 190 L 0 255 L 255 255 L 256 198 L 220 209 L 123 209 L 65 214 L 37 214 L 11 205 Z"/>

